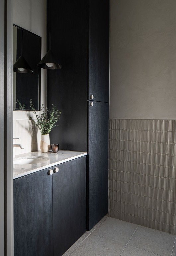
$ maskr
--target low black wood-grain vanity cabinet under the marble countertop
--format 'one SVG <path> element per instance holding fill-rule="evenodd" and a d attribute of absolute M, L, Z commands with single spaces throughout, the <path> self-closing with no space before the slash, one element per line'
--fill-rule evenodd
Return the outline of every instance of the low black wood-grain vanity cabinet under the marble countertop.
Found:
<path fill-rule="evenodd" d="M 57 167 L 14 180 L 14 256 L 61 256 L 85 233 L 86 157 Z"/>

